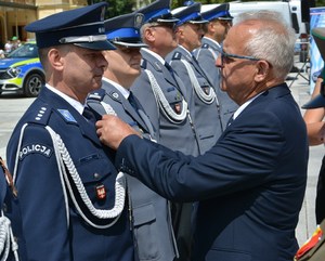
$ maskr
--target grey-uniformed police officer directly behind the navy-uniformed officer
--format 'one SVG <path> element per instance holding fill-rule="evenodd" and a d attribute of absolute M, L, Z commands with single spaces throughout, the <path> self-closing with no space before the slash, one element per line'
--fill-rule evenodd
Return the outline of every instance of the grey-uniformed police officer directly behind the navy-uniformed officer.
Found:
<path fill-rule="evenodd" d="M 141 73 L 140 26 L 143 14 L 131 13 L 105 21 L 105 34 L 116 50 L 105 51 L 108 67 L 101 91 L 94 91 L 87 104 L 95 114 L 105 114 L 109 106 L 116 115 L 150 140 L 156 132 L 130 87 Z M 107 112 L 109 113 L 109 112 Z M 172 261 L 177 246 L 172 230 L 169 201 L 138 179 L 127 177 L 136 257 L 145 261 Z"/>

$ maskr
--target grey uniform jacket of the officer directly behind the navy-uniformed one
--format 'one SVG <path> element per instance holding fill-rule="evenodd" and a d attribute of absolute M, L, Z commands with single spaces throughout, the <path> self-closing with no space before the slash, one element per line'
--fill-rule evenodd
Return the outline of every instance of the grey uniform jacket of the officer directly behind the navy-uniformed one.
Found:
<path fill-rule="evenodd" d="M 108 81 L 103 81 L 105 94 L 102 101 L 109 104 L 117 116 L 142 133 L 155 139 L 150 119 L 135 99 L 138 112 L 129 101 Z M 95 91 L 96 92 L 96 91 Z M 91 104 L 89 104 L 91 106 Z M 128 192 L 131 200 L 132 231 L 139 260 L 172 261 L 177 246 L 171 224 L 169 201 L 138 179 L 128 175 Z"/>

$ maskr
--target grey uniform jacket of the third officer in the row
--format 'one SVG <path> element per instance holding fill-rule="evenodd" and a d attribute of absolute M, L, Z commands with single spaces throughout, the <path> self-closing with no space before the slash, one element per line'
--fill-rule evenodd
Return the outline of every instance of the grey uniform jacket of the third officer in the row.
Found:
<path fill-rule="evenodd" d="M 174 113 L 177 113 L 177 106 L 180 106 L 180 109 L 183 108 L 182 102 L 186 97 L 186 89 L 182 84 L 181 79 L 177 75 L 173 77 L 168 68 L 150 51 L 142 50 L 141 54 L 143 58 L 142 73 L 132 84 L 131 90 L 148 115 L 155 130 L 157 130 L 159 144 L 171 149 L 181 151 L 187 155 L 199 155 L 196 126 L 191 121 L 191 118 L 194 118 L 194 116 L 192 116 L 192 113 L 191 115 L 187 114 L 184 120 L 180 122 L 170 119 L 164 108 L 157 103 L 151 81 L 144 70 L 152 71 L 165 99 Z"/>

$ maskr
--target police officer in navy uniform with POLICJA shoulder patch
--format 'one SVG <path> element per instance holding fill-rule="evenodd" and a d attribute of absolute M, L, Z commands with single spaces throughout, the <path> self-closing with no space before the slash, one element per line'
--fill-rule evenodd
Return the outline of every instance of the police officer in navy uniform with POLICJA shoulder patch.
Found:
<path fill-rule="evenodd" d="M 8 144 L 18 191 L 8 214 L 21 260 L 134 260 L 125 177 L 83 106 L 102 86 L 102 51 L 114 49 L 104 34 L 105 8 L 61 12 L 25 27 L 36 32 L 47 83 Z"/>

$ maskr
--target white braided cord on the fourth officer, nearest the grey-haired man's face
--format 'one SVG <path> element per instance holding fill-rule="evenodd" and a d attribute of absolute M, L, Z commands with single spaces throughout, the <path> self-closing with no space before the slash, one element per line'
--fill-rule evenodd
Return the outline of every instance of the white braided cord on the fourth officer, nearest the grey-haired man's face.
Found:
<path fill-rule="evenodd" d="M 198 80 L 195 76 L 195 73 L 194 73 L 193 68 L 191 67 L 190 63 L 182 58 L 180 61 L 184 64 L 186 70 L 187 70 L 193 89 L 194 89 L 195 93 L 197 94 L 198 99 L 202 102 L 204 102 L 205 104 L 213 103 L 213 101 L 216 99 L 216 92 L 214 92 L 213 88 L 211 88 L 211 87 L 209 88 L 209 94 L 205 93 L 205 91 L 199 86 L 199 82 L 198 82 Z"/>

